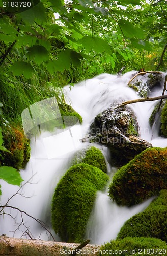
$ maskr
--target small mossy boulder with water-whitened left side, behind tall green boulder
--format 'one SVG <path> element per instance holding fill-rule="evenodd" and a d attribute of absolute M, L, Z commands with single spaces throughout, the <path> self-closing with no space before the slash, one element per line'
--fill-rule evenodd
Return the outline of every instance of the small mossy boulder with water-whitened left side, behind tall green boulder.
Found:
<path fill-rule="evenodd" d="M 78 151 L 72 160 L 72 165 L 78 163 L 87 163 L 99 168 L 104 173 L 107 172 L 104 155 L 101 150 L 95 146 L 87 147 Z"/>

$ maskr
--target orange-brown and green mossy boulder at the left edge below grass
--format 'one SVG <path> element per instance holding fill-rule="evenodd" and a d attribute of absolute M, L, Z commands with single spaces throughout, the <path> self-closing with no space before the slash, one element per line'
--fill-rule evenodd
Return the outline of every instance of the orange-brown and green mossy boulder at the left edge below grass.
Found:
<path fill-rule="evenodd" d="M 30 159 L 30 140 L 20 127 L 12 127 L 3 133 L 4 146 L 11 152 L 3 152 L 1 165 L 12 166 L 17 170 L 24 169 Z"/>

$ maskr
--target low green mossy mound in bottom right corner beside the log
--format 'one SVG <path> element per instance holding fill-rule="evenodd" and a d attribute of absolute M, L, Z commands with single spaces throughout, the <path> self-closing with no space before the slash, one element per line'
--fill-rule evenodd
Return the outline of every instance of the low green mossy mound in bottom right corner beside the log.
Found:
<path fill-rule="evenodd" d="M 167 245 L 156 238 L 126 237 L 122 240 L 112 240 L 100 247 L 100 255 L 166 255 Z"/>

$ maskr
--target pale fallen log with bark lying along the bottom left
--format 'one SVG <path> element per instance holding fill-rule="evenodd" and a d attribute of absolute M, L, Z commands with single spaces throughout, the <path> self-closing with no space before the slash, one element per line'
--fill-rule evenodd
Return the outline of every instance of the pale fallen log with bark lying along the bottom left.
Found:
<path fill-rule="evenodd" d="M 0 236 L 0 255 L 7 256 L 61 256 L 61 255 L 91 255 L 99 254 L 100 245 L 86 245 L 82 249 L 77 249 L 79 244 L 52 242 L 33 239 L 8 238 Z M 76 250 L 77 249 L 77 250 Z"/>

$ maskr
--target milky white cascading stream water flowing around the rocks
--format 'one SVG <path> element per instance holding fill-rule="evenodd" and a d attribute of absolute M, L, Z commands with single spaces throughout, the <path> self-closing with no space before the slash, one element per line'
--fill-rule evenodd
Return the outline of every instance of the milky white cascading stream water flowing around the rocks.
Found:
<path fill-rule="evenodd" d="M 86 147 L 88 143 L 82 143 L 79 139 L 84 138 L 94 117 L 107 109 L 117 99 L 132 100 L 138 98 L 136 92 L 126 87 L 129 79 L 135 74 L 134 71 L 124 74 L 122 77 L 116 75 L 101 74 L 93 79 L 82 81 L 71 89 L 64 88 L 67 103 L 71 103 L 82 117 L 83 124 L 76 124 L 71 130 L 66 129 L 60 133 L 51 134 L 43 132 L 38 138 L 31 141 L 31 159 L 25 170 L 21 170 L 21 176 L 26 183 L 19 193 L 10 201 L 9 205 L 18 207 L 34 218 L 50 224 L 51 199 L 60 178 L 69 168 L 69 162 L 75 151 Z M 154 95 L 161 95 L 162 90 L 154 92 Z M 156 130 L 150 129 L 149 117 L 157 102 L 143 102 L 129 105 L 134 111 L 140 126 L 141 138 L 152 143 L 153 146 L 166 147 L 167 139 L 158 137 Z M 71 138 L 71 133 L 73 138 Z M 72 143 L 72 144 L 70 144 Z M 107 148 L 101 148 L 106 160 L 108 174 L 110 177 L 116 172 L 116 168 L 110 162 Z M 33 177 L 32 177 L 33 176 Z M 32 177 L 32 178 L 31 178 Z M 17 186 L 9 185 L 1 180 L 2 196 L 1 205 L 5 205 L 8 198 L 16 193 Z M 21 195 L 20 195 L 21 194 Z M 87 225 L 86 237 L 92 243 L 102 244 L 115 239 L 121 226 L 131 216 L 144 210 L 152 199 L 130 208 L 117 206 L 105 193 L 98 192 L 94 209 Z M 12 208 L 5 208 L 4 216 L 0 216 L 0 234 L 15 237 L 33 237 L 44 240 L 52 239 L 46 230 L 32 218 Z M 15 219 L 11 218 L 16 217 Z M 16 223 L 17 222 L 17 223 Z M 16 231 L 15 231 L 16 230 Z M 12 232 L 15 231 L 15 232 Z M 54 234 L 54 232 L 53 232 Z M 60 241 L 55 236 L 55 240 Z"/>

